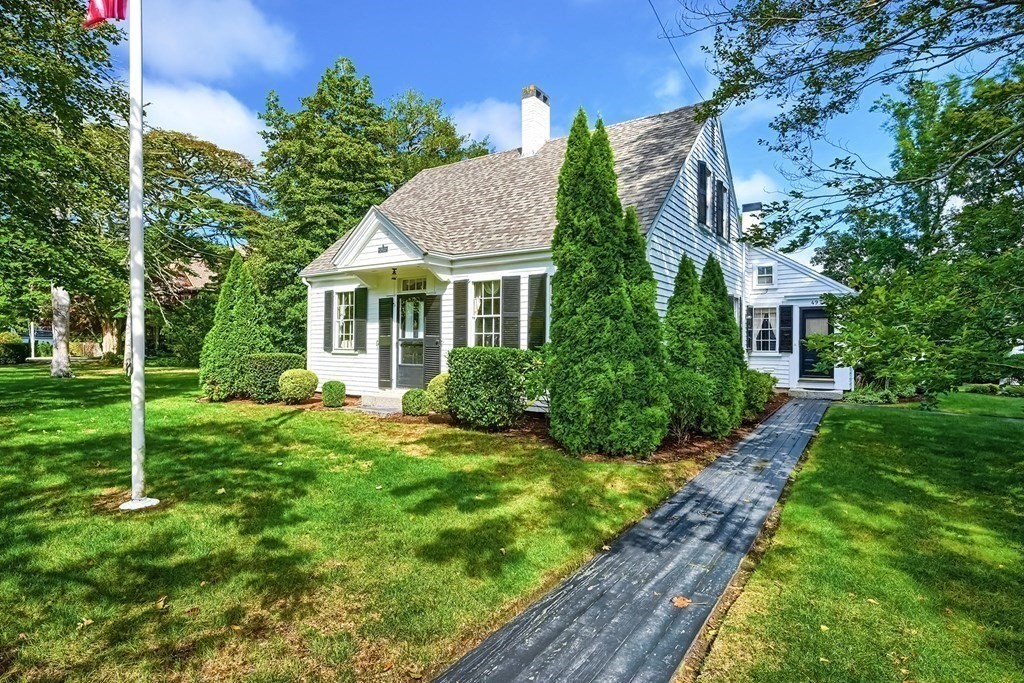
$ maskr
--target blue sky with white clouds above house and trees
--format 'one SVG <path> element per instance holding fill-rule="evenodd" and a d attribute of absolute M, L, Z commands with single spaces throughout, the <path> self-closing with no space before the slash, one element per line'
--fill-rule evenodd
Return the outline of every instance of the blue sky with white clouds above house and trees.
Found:
<path fill-rule="evenodd" d="M 655 6 L 674 27 L 676 0 Z M 581 105 L 615 123 L 699 99 L 646 0 L 146 0 L 144 33 L 150 123 L 253 158 L 267 91 L 295 105 L 340 56 L 370 75 L 379 99 L 410 88 L 440 97 L 464 132 L 489 135 L 499 150 L 518 145 L 519 91 L 530 83 L 551 96 L 554 135 Z M 677 49 L 708 94 L 699 40 Z M 740 202 L 784 187 L 783 160 L 758 144 L 774 111 L 759 101 L 725 116 Z M 831 134 L 884 163 L 880 124 L 865 108 Z"/>

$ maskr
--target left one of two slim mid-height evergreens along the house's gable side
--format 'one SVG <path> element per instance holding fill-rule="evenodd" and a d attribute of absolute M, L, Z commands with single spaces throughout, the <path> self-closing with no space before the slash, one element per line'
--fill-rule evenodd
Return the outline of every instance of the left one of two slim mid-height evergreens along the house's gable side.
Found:
<path fill-rule="evenodd" d="M 714 399 L 713 384 L 701 372 L 707 355 L 703 339 L 707 312 L 696 266 L 684 254 L 676 271 L 664 326 L 666 378 L 672 401 L 670 429 L 677 438 L 700 427 Z"/>

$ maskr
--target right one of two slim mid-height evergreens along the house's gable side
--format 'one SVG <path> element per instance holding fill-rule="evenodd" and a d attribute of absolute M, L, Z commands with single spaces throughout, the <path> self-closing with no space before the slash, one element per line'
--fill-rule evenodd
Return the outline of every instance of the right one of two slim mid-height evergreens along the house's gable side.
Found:
<path fill-rule="evenodd" d="M 721 438 L 739 426 L 743 411 L 743 346 L 722 266 L 708 257 L 700 273 L 700 291 L 707 303 L 703 319 L 706 374 L 713 382 L 714 400 L 701 429 Z"/>

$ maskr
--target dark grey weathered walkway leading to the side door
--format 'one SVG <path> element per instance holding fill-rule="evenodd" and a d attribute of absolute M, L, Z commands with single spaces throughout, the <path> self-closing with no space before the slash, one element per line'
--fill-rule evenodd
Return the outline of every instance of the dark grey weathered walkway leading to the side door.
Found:
<path fill-rule="evenodd" d="M 791 400 L 436 680 L 670 681 L 827 407 Z"/>

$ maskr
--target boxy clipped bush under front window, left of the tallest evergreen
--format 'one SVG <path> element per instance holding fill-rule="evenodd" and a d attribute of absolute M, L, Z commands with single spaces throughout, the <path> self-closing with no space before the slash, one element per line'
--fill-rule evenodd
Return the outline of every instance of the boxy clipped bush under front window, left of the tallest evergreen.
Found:
<path fill-rule="evenodd" d="M 540 355 L 518 348 L 471 346 L 449 352 L 447 397 L 453 417 L 472 427 L 507 429 L 525 413 L 530 375 Z"/>

